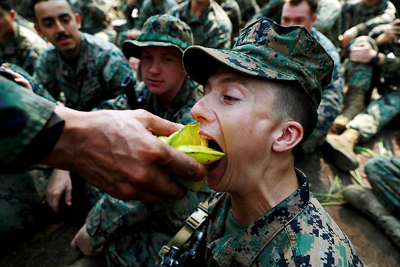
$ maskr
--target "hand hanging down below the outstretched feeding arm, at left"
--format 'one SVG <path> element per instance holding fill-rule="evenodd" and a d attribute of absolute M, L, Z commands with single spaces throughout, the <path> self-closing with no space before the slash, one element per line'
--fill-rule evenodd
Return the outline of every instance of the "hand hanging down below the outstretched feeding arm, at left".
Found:
<path fill-rule="evenodd" d="M 54 169 L 46 187 L 46 199 L 51 209 L 58 213 L 61 195 L 65 192 L 65 204 L 72 205 L 72 182 L 69 171 Z"/>

